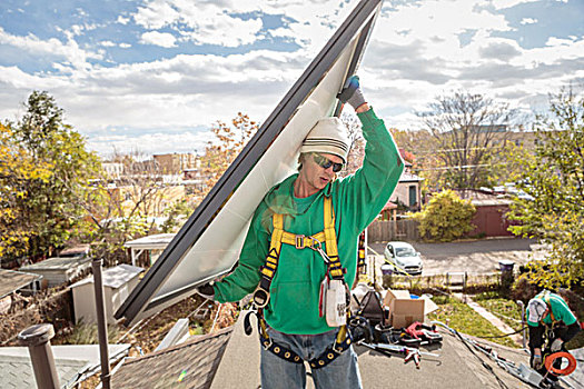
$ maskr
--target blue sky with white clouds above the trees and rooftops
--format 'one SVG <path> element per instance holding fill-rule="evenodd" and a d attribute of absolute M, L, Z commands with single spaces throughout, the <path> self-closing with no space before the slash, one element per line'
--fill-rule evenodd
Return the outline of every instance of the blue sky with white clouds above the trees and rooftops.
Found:
<path fill-rule="evenodd" d="M 241 111 L 265 120 L 356 0 L 2 0 L 0 120 L 46 90 L 103 157 L 199 152 Z M 525 112 L 584 84 L 584 0 L 384 1 L 358 70 L 386 124 L 437 96 Z"/>

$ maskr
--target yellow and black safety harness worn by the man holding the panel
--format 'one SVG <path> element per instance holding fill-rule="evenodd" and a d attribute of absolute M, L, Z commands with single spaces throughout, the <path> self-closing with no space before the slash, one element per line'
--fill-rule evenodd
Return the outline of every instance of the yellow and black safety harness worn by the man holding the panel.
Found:
<path fill-rule="evenodd" d="M 284 216 L 275 213 L 273 216 L 274 231 L 271 232 L 271 240 L 269 246 L 268 256 L 266 258 L 266 265 L 260 268 L 261 279 L 259 281 L 256 291 L 254 292 L 254 303 L 257 308 L 258 318 L 258 330 L 260 336 L 261 345 L 266 350 L 271 351 L 276 356 L 295 363 L 303 363 L 303 359 L 293 350 L 278 345 L 271 340 L 267 332 L 266 320 L 264 319 L 264 308 L 269 302 L 269 289 L 274 276 L 278 269 L 278 261 L 281 251 L 281 245 L 294 246 L 298 250 L 306 248 L 318 251 L 328 266 L 328 273 L 331 279 L 344 279 L 345 269 L 340 265 L 337 249 L 337 237 L 335 232 L 335 211 L 333 209 L 333 201 L 329 197 L 325 197 L 325 229 L 316 235 L 306 237 L 304 235 L 295 235 L 284 230 Z M 325 250 L 323 250 L 323 243 L 325 243 Z M 250 312 L 254 313 L 254 312 Z M 251 332 L 249 326 L 249 315 L 245 318 L 246 332 Z M 349 315 L 347 305 L 347 316 Z M 347 326 L 339 327 L 335 343 L 327 348 L 323 355 L 308 361 L 313 369 L 319 369 L 325 367 L 335 360 L 343 351 L 349 348 L 352 342 L 350 333 Z"/>

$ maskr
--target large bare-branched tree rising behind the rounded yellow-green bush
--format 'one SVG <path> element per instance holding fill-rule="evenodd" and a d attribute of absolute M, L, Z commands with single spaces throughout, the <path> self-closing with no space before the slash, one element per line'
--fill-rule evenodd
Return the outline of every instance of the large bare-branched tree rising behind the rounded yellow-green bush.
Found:
<path fill-rule="evenodd" d="M 518 112 L 507 103 L 482 94 L 455 92 L 438 96 L 418 112 L 432 142 L 420 150 L 424 174 L 439 188 L 473 189 L 496 183 L 497 167 L 506 162 L 499 151 L 507 146 L 508 126 Z"/>

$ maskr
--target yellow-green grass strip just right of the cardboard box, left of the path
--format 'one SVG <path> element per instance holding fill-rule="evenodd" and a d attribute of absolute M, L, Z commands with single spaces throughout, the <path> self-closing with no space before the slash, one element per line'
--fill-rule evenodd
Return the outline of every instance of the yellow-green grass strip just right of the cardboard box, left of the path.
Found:
<path fill-rule="evenodd" d="M 433 300 L 438 305 L 439 309 L 428 316 L 430 320 L 441 321 L 459 332 L 477 338 L 504 335 L 464 302 L 445 296 L 434 297 Z M 487 340 L 507 347 L 518 347 L 509 338 L 488 338 Z"/>

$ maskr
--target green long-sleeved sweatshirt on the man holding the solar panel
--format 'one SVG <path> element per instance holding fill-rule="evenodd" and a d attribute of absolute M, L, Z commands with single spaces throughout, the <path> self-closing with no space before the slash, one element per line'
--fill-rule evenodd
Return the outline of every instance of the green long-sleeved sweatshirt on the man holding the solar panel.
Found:
<path fill-rule="evenodd" d="M 239 263 L 234 272 L 215 283 L 219 302 L 238 301 L 251 293 L 260 280 L 259 268 L 266 262 L 274 229 L 274 213 L 284 215 L 284 229 L 295 235 L 313 236 L 324 229 L 324 197 L 330 197 L 335 210 L 340 263 L 345 280 L 353 287 L 357 270 L 357 239 L 392 196 L 404 163 L 392 134 L 373 110 L 357 114 L 366 140 L 363 167 L 355 174 L 328 183 L 304 199 L 294 197 L 293 174 L 276 184 L 256 209 Z M 270 300 L 264 310 L 267 323 L 285 333 L 315 335 L 329 331 L 318 315 L 320 282 L 327 266 L 318 252 L 281 245 Z"/>

